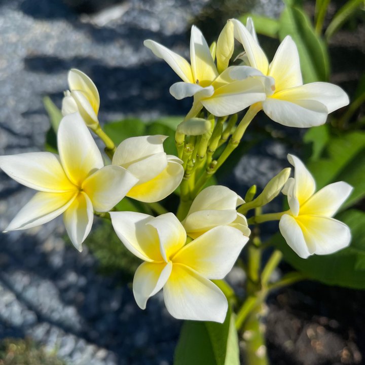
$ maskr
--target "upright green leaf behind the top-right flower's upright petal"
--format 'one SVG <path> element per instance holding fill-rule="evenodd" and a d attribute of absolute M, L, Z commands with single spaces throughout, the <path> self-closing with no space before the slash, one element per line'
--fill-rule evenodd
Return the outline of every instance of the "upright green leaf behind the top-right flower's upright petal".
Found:
<path fill-rule="evenodd" d="M 307 14 L 296 6 L 287 4 L 280 17 L 279 38 L 290 35 L 298 47 L 303 81 L 327 81 L 330 74 L 329 55 Z"/>

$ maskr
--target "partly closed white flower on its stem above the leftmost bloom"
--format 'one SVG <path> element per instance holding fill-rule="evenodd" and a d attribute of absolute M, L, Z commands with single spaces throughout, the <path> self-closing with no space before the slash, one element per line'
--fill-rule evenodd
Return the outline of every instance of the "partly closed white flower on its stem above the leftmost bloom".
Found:
<path fill-rule="evenodd" d="M 68 72 L 68 87 L 62 100 L 62 115 L 79 112 L 86 125 L 96 129 L 99 125 L 100 97 L 95 84 L 84 72 L 71 68 Z"/>

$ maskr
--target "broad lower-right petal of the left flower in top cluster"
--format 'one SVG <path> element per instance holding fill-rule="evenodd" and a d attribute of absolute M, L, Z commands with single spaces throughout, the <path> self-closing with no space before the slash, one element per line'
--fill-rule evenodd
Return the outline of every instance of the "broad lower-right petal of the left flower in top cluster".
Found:
<path fill-rule="evenodd" d="M 215 89 L 214 95 L 200 102 L 216 117 L 238 113 L 256 102 L 266 99 L 261 80 L 248 78 Z"/>

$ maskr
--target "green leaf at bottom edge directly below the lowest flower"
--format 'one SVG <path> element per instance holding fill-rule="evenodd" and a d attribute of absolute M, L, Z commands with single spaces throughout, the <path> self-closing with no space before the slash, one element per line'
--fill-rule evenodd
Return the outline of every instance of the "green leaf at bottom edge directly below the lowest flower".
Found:
<path fill-rule="evenodd" d="M 174 365 L 239 365 L 234 316 L 228 309 L 224 323 L 185 321 Z"/>

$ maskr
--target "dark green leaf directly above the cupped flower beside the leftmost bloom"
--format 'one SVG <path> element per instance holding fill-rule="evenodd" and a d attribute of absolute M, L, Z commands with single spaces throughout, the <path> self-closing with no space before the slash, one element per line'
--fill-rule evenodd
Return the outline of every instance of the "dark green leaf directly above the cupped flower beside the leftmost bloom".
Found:
<path fill-rule="evenodd" d="M 119 122 L 107 123 L 103 127 L 104 132 L 117 146 L 126 138 L 145 135 L 145 128 L 145 123 L 137 118 L 128 118 Z"/>

